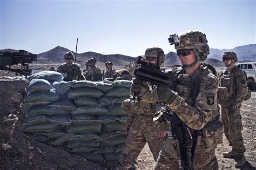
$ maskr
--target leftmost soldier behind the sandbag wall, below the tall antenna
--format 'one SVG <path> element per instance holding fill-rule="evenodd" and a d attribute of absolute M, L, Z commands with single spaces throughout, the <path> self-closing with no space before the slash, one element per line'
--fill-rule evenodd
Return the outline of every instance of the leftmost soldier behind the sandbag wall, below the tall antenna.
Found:
<path fill-rule="evenodd" d="M 66 73 L 64 81 L 72 80 L 85 80 L 85 77 L 82 74 L 81 66 L 77 63 L 72 64 L 74 56 L 71 51 L 64 54 L 64 59 L 66 63 L 59 64 L 56 71 L 60 73 Z"/>

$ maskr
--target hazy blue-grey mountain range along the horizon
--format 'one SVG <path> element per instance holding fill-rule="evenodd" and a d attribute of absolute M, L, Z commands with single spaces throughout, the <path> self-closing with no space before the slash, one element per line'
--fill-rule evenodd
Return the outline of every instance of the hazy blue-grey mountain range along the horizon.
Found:
<path fill-rule="evenodd" d="M 3 49 L 3 51 L 17 51 L 12 49 Z M 61 46 L 56 46 L 55 48 L 39 53 L 37 55 L 37 62 L 36 64 L 58 64 L 64 62 L 64 53 L 71 51 Z M 242 45 L 238 47 L 234 47 L 234 49 L 210 49 L 210 55 L 205 60 L 206 63 L 212 64 L 213 66 L 224 66 L 223 62 L 221 61 L 222 54 L 224 51 L 234 51 L 237 53 L 238 59 L 241 62 L 256 62 L 256 44 L 249 44 L 249 45 Z M 73 51 L 72 51 L 73 52 Z M 73 52 L 75 55 L 75 52 Z M 85 67 L 85 62 L 89 58 L 96 58 L 97 63 L 96 65 L 100 69 L 105 69 L 105 62 L 110 61 L 113 63 L 114 68 L 122 69 L 125 64 L 133 62 L 136 58 L 131 56 L 125 56 L 120 54 L 114 55 L 103 55 L 97 52 L 84 52 L 84 53 L 77 53 L 76 56 L 76 63 L 80 64 L 82 68 Z M 179 57 L 177 56 L 176 52 L 169 52 L 165 55 L 165 62 L 164 65 L 181 65 Z"/>

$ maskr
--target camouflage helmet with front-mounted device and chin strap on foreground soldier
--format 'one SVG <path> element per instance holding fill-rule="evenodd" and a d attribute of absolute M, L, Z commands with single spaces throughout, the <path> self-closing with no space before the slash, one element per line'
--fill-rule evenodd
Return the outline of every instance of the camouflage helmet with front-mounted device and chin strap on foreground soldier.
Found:
<path fill-rule="evenodd" d="M 186 67 L 193 67 L 199 61 L 204 62 L 207 58 L 207 55 L 210 54 L 210 48 L 208 46 L 208 41 L 206 39 L 206 35 L 200 31 L 196 30 L 188 30 L 181 35 L 177 36 L 170 35 L 169 43 L 175 45 L 176 50 L 183 50 L 189 49 L 192 50 L 196 55 L 196 61 L 190 65 L 185 65 L 183 68 Z"/>

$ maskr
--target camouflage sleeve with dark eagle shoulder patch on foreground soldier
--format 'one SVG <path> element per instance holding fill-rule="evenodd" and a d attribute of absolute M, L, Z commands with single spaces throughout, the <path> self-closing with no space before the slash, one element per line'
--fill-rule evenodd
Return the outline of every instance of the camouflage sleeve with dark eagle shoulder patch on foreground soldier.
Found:
<path fill-rule="evenodd" d="M 212 75 L 212 76 L 211 76 Z M 218 106 L 218 79 L 211 75 L 205 75 L 201 81 L 199 94 L 193 106 L 177 96 L 169 108 L 176 112 L 178 117 L 188 126 L 195 130 L 203 128 L 211 119 L 212 113 Z"/>

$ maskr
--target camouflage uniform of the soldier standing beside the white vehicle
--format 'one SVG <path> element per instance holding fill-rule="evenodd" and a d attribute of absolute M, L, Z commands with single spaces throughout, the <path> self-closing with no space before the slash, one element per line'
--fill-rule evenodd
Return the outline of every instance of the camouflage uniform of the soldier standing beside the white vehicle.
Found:
<path fill-rule="evenodd" d="M 221 118 L 224 124 L 224 134 L 232 145 L 233 151 L 238 154 L 245 152 L 242 139 L 242 121 L 240 115 L 241 103 L 247 94 L 247 82 L 244 71 L 234 66 L 231 71 L 227 69 L 220 77 L 219 104 L 221 105 Z M 228 107 L 235 106 L 233 114 L 228 113 Z"/>

